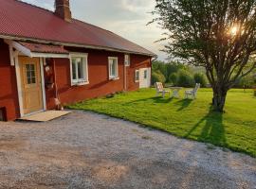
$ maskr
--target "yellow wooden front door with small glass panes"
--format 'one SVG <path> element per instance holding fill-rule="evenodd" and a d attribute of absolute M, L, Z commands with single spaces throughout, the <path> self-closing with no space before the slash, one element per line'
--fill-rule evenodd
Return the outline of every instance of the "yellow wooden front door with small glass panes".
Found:
<path fill-rule="evenodd" d="M 24 114 L 39 112 L 43 107 L 43 93 L 38 58 L 19 57 Z"/>

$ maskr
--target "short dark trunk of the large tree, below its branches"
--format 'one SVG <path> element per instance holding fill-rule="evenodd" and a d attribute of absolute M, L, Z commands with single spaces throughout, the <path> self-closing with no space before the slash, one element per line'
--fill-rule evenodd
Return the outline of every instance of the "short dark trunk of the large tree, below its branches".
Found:
<path fill-rule="evenodd" d="M 214 107 L 214 111 L 224 112 L 224 107 L 226 103 L 227 90 L 223 89 L 213 89 L 213 98 L 212 105 Z"/>

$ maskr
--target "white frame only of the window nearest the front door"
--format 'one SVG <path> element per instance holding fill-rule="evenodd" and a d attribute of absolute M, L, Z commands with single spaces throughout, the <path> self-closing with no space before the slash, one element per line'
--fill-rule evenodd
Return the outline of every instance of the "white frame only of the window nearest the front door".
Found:
<path fill-rule="evenodd" d="M 81 58 L 83 60 L 83 75 L 84 78 L 82 79 L 73 79 L 73 64 L 72 60 L 74 58 Z M 89 84 L 89 75 L 88 75 L 88 54 L 87 53 L 70 53 L 69 54 L 69 60 L 70 60 L 70 81 L 71 86 L 78 86 L 78 85 L 87 85 Z M 77 70 L 77 77 L 78 77 L 78 70 Z"/>

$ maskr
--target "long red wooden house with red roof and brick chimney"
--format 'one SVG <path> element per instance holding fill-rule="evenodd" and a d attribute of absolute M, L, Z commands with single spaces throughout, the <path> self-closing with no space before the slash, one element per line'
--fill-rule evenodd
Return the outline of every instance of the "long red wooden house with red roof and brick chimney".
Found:
<path fill-rule="evenodd" d="M 154 53 L 55 7 L 0 0 L 0 120 L 150 86 Z"/>

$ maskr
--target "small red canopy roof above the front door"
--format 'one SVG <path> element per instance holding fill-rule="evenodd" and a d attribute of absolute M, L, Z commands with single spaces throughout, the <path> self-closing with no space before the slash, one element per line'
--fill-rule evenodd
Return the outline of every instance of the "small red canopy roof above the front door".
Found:
<path fill-rule="evenodd" d="M 26 42 L 18 42 L 31 52 L 35 53 L 54 53 L 54 54 L 68 54 L 69 52 L 64 49 L 64 46 L 58 45 L 49 45 L 42 43 L 26 43 Z"/>

